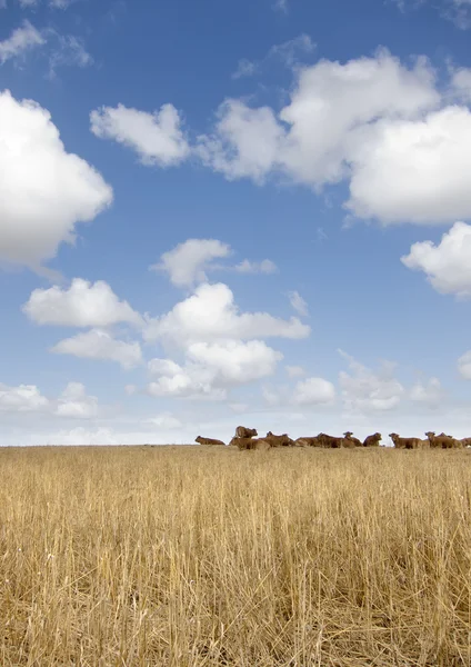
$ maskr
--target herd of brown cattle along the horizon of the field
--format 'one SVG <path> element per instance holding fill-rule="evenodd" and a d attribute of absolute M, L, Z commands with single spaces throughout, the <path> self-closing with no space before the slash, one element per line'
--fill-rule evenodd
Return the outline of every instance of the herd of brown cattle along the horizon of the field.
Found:
<path fill-rule="evenodd" d="M 381 440 L 381 434 L 373 434 L 372 436 L 368 436 L 362 442 L 358 438 L 354 438 L 351 431 L 345 431 L 341 438 L 319 434 L 314 437 L 298 438 L 297 440 L 292 440 L 288 434 L 274 436 L 271 431 L 268 431 L 264 438 L 258 438 L 258 435 L 254 428 L 238 426 L 236 436 L 229 445 L 239 447 L 239 449 L 261 450 L 267 450 L 271 447 L 324 447 L 339 449 L 341 447 L 379 447 Z M 471 447 L 471 438 L 458 440 L 445 434 L 437 436 L 433 431 L 428 431 L 424 440 L 420 438 L 401 438 L 398 434 L 389 434 L 389 437 L 397 449 L 463 449 L 464 447 Z M 202 438 L 201 436 L 198 436 L 196 441 L 200 445 L 226 446 L 226 442 L 222 440 Z"/>

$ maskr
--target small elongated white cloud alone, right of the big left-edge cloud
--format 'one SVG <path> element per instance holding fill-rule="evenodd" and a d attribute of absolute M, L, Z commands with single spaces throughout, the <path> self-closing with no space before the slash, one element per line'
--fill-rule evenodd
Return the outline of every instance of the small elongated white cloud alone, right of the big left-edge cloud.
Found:
<path fill-rule="evenodd" d="M 171 167 L 190 153 L 181 130 L 181 118 L 172 104 L 147 113 L 123 104 L 101 107 L 90 113 L 91 131 L 101 139 L 113 139 L 134 150 L 143 165 Z"/>

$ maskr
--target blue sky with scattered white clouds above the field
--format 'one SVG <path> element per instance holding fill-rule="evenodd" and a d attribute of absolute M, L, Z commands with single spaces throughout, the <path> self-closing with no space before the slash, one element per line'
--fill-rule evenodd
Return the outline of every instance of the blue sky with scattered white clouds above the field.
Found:
<path fill-rule="evenodd" d="M 469 436 L 470 28 L 0 0 L 0 445 Z"/>

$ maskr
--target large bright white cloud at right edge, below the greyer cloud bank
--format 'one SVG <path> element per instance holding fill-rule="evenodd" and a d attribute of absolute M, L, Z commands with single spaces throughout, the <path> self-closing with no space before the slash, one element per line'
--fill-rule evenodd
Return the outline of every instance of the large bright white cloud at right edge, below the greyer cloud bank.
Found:
<path fill-rule="evenodd" d="M 379 122 L 355 159 L 347 207 L 358 217 L 430 225 L 471 216 L 467 108 Z"/>

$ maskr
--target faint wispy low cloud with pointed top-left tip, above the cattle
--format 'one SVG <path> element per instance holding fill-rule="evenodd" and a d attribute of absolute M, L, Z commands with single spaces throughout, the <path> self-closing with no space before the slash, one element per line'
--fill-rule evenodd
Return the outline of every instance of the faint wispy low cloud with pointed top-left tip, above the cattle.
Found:
<path fill-rule="evenodd" d="M 374 372 L 342 350 L 339 354 L 348 361 L 351 372 L 340 371 L 339 382 L 343 407 L 351 412 L 392 410 L 404 394 L 403 386 L 394 378 L 395 364 L 383 361 Z"/>

